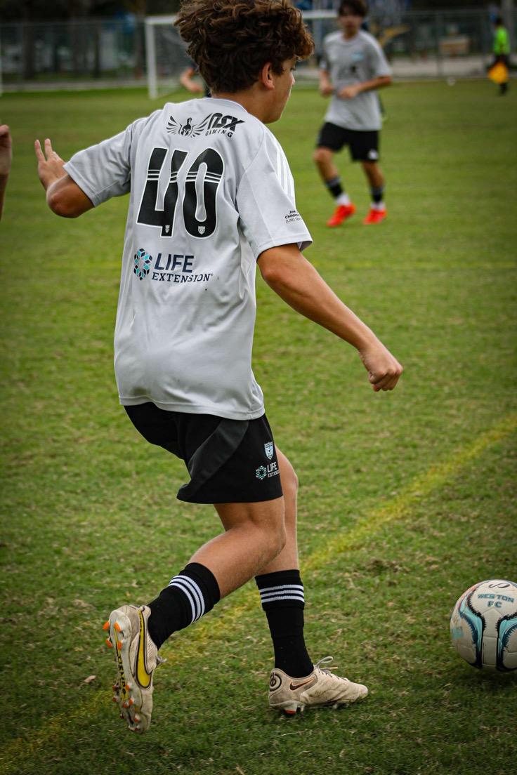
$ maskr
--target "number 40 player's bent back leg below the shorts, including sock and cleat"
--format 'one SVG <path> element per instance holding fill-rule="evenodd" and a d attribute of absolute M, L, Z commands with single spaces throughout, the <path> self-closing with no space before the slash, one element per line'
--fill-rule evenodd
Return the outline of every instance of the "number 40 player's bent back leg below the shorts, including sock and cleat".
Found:
<path fill-rule="evenodd" d="M 153 673 L 164 641 L 250 580 L 284 547 L 284 498 L 216 508 L 225 532 L 198 549 L 149 605 L 115 608 L 105 624 L 119 672 L 114 700 L 133 732 L 149 729 Z"/>

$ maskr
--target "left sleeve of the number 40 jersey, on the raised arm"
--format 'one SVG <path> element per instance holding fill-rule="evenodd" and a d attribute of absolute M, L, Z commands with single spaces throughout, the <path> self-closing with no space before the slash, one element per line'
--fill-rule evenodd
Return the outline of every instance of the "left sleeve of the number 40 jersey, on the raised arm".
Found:
<path fill-rule="evenodd" d="M 95 207 L 131 187 L 131 147 L 136 131 L 147 119 L 138 119 L 109 140 L 74 153 L 64 169 Z"/>

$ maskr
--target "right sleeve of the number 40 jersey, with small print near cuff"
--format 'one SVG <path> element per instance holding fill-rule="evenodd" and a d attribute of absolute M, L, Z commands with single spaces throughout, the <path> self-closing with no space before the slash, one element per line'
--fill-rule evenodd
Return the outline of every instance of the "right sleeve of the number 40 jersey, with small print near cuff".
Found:
<path fill-rule="evenodd" d="M 312 244 L 295 204 L 295 182 L 288 160 L 271 133 L 264 132 L 257 155 L 236 191 L 239 224 L 255 259 L 268 248 Z"/>

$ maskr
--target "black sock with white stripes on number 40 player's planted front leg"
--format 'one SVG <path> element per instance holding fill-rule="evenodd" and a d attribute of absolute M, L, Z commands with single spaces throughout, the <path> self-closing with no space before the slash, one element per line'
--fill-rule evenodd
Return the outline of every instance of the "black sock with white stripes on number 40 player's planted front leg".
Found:
<path fill-rule="evenodd" d="M 274 667 L 291 678 L 307 676 L 313 665 L 303 637 L 305 599 L 300 571 L 278 570 L 255 580 L 273 639 Z"/>

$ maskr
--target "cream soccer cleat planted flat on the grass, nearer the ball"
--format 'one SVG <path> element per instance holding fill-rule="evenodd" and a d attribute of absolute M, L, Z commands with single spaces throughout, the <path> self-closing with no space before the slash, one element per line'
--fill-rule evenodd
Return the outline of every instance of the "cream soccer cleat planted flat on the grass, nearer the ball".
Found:
<path fill-rule="evenodd" d="M 339 678 L 328 668 L 320 667 L 332 661 L 332 656 L 323 657 L 305 678 L 291 678 L 277 667 L 271 670 L 270 708 L 295 715 L 298 708 L 300 711 L 327 705 L 337 708 L 339 705 L 364 700 L 368 694 L 367 687 L 363 684 L 353 684 L 348 678 Z"/>

